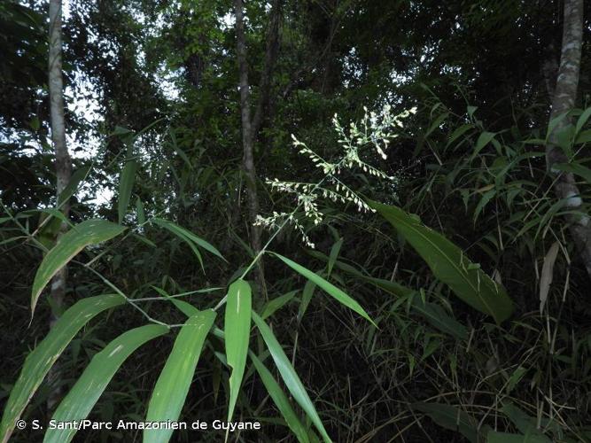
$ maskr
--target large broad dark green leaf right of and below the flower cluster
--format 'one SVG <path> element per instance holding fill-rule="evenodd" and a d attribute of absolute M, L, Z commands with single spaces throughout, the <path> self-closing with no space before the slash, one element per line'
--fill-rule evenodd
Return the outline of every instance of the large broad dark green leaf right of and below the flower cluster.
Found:
<path fill-rule="evenodd" d="M 424 226 L 396 206 L 369 202 L 427 262 L 433 274 L 471 307 L 501 323 L 513 312 L 513 304 L 501 284 L 474 266 L 463 251 L 439 232 Z"/>

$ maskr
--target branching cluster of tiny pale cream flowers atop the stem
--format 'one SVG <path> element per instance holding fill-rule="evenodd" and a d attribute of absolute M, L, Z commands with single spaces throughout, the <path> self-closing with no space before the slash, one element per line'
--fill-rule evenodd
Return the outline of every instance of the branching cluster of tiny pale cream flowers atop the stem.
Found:
<path fill-rule="evenodd" d="M 379 157 L 387 159 L 385 152 L 393 138 L 398 136 L 394 131 L 403 127 L 402 120 L 410 114 L 416 113 L 416 108 L 396 115 L 391 113 L 390 105 L 385 105 L 380 113 L 368 113 L 367 108 L 364 108 L 364 110 L 365 115 L 362 120 L 359 123 L 350 123 L 348 130 L 340 124 L 337 114 L 332 119 L 332 125 L 338 135 L 338 144 L 343 151 L 336 162 L 323 159 L 292 135 L 293 146 L 299 150 L 300 154 L 307 156 L 315 164 L 315 167 L 322 169 L 323 179 L 318 183 L 282 182 L 278 179 L 268 180 L 267 183 L 272 190 L 293 194 L 298 205 L 291 214 L 274 212 L 270 217 L 261 217 L 259 215 L 254 222 L 255 225 L 268 229 L 281 229 L 285 224 L 291 223 L 301 234 L 302 241 L 309 247 L 314 248 L 315 245 L 307 236 L 306 229 L 295 216 L 299 208 L 303 208 L 305 218 L 312 221 L 314 225 L 318 225 L 323 221 L 323 213 L 318 209 L 317 202 L 319 198 L 328 198 L 333 202 L 343 204 L 353 203 L 360 212 L 373 212 L 373 209 L 354 190 L 351 190 L 343 183 L 339 176 L 345 170 L 360 168 L 369 175 L 395 182 L 396 177 L 387 175 L 377 167 L 369 165 L 362 159 L 360 154 L 365 153 L 366 148 L 369 146 L 373 147 Z"/>

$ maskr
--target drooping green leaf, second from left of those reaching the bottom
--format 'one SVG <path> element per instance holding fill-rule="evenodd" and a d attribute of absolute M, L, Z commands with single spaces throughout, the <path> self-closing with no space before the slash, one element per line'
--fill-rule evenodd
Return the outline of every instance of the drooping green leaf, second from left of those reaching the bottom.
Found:
<path fill-rule="evenodd" d="M 85 419 L 123 361 L 139 346 L 167 332 L 166 326 L 147 324 L 123 332 L 115 338 L 101 352 L 92 357 L 82 376 L 67 393 L 66 398 L 59 403 L 51 420 L 72 423 Z M 74 439 L 76 431 L 75 429 L 48 429 L 43 443 L 67 443 Z"/>

